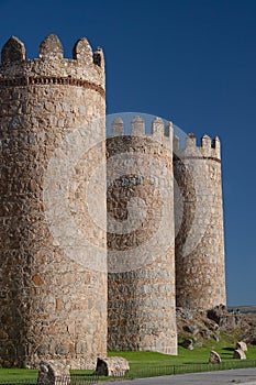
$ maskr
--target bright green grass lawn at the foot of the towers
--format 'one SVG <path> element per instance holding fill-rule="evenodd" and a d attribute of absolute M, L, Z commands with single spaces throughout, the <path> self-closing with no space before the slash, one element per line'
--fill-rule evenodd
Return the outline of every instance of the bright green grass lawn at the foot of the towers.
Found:
<path fill-rule="evenodd" d="M 214 340 L 201 341 L 202 348 L 194 346 L 192 351 L 183 349 L 179 345 L 178 355 L 170 356 L 155 352 L 109 352 L 109 356 L 123 356 L 130 363 L 131 373 L 143 371 L 147 369 L 170 366 L 170 365 L 186 365 L 186 364 L 204 364 L 208 363 L 210 351 L 214 350 L 220 355 L 223 362 L 233 360 L 234 337 L 221 336 L 220 342 Z M 246 352 L 247 360 L 256 360 L 256 346 L 248 346 Z M 237 360 L 234 360 L 237 361 Z M 92 371 L 71 371 L 71 373 L 91 373 Z M 36 378 L 36 370 L 24 369 L 0 369 L 0 382 L 15 380 L 22 381 L 25 378 Z"/>

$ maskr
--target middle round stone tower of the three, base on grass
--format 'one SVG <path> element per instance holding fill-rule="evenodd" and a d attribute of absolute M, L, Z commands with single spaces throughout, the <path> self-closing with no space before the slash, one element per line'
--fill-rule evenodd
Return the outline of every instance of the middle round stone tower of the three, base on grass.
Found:
<path fill-rule="evenodd" d="M 177 354 L 171 124 L 116 118 L 107 183 L 109 349 Z"/>

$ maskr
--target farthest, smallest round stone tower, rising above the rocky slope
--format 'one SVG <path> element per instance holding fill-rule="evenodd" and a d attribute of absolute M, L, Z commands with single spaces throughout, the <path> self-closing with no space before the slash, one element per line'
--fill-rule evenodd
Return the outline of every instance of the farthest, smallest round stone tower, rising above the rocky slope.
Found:
<path fill-rule="evenodd" d="M 174 142 L 177 306 L 226 304 L 220 141 Z"/>

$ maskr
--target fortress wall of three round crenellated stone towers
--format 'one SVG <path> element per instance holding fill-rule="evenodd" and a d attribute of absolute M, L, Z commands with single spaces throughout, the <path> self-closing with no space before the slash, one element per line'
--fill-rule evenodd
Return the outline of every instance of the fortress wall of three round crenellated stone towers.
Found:
<path fill-rule="evenodd" d="M 225 304 L 220 141 L 159 118 L 105 140 L 104 58 L 47 36 L 0 64 L 0 365 L 92 369 L 111 350 L 177 354 L 176 306 Z"/>

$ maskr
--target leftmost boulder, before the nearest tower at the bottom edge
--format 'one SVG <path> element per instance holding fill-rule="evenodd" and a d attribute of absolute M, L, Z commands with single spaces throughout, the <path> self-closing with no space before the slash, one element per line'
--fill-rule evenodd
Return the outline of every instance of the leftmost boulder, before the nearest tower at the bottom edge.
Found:
<path fill-rule="evenodd" d="M 37 385 L 56 385 L 59 383 L 70 384 L 69 366 L 62 361 L 41 361 Z"/>

